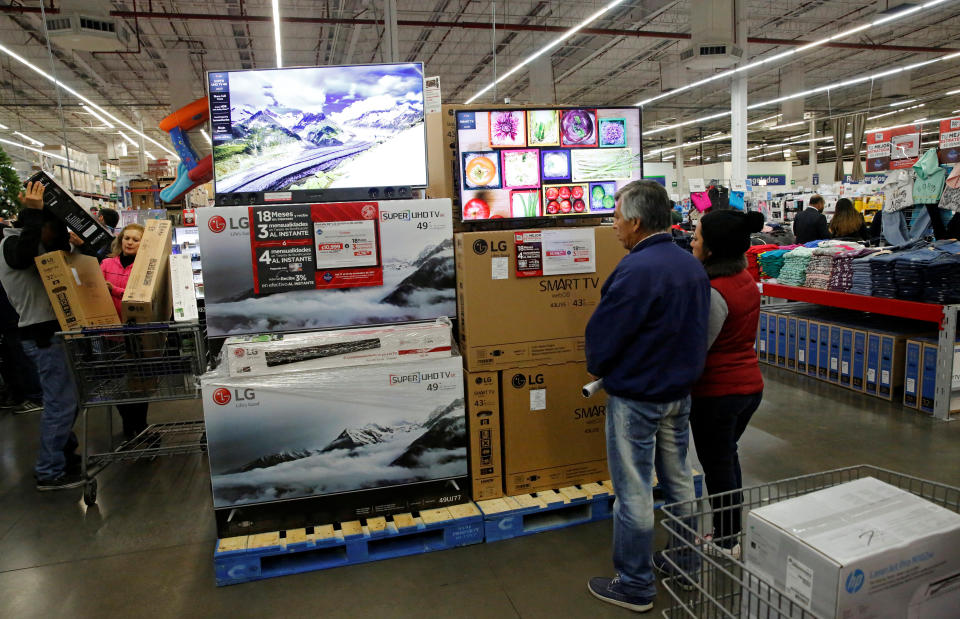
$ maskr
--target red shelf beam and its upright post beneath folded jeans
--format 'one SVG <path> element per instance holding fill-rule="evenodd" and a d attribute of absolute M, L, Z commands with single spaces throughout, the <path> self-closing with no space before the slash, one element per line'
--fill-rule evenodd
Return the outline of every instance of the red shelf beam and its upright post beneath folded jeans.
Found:
<path fill-rule="evenodd" d="M 953 395 L 954 344 L 957 341 L 957 314 L 960 305 L 920 303 L 901 299 L 868 297 L 850 294 L 849 292 L 766 283 L 760 285 L 760 294 L 787 301 L 803 301 L 828 307 L 937 323 L 940 333 L 937 341 L 937 390 L 933 416 L 942 421 L 950 420 L 950 399 Z"/>

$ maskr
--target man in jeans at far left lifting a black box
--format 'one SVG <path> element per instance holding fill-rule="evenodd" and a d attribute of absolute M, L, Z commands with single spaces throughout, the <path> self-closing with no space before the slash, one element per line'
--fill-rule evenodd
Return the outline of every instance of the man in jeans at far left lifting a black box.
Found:
<path fill-rule="evenodd" d="M 69 251 L 70 243 L 79 245 L 82 241 L 43 210 L 43 189 L 39 182 L 29 183 L 26 192 L 20 193 L 26 208 L 20 212 L 16 227 L 4 230 L 0 282 L 20 315 L 23 350 L 37 366 L 43 390 L 40 452 L 35 467 L 37 490 L 61 490 L 83 485 L 73 433 L 77 399 L 67 357 L 56 335 L 60 325 L 33 259 L 49 251 Z"/>

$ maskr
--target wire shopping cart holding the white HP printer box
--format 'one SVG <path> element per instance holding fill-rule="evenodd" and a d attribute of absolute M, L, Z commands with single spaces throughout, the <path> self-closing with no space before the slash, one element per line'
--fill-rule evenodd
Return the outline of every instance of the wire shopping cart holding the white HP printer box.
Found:
<path fill-rule="evenodd" d="M 736 491 L 712 495 L 722 505 L 718 511 L 710 509 L 711 497 L 667 505 L 662 510 L 661 520 L 669 532 L 668 549 L 664 551 L 664 557 L 673 566 L 675 575 L 661 582 L 672 598 L 671 606 L 663 611 L 663 616 L 668 619 L 818 619 L 818 615 L 811 613 L 772 583 L 766 582 L 742 560 L 724 556 L 715 545 L 718 541 L 723 541 L 724 546 L 732 546 L 736 542 L 743 545 L 743 533 L 726 540 L 708 540 L 699 534 L 713 530 L 712 519 L 722 517 L 719 512 L 732 510 L 735 513 L 740 510 L 743 518 L 746 518 L 747 511 L 751 509 L 864 477 L 873 477 L 941 507 L 960 512 L 960 488 L 868 465 L 745 488 L 739 491 L 742 493 L 741 501 L 732 500 L 736 497 Z"/>

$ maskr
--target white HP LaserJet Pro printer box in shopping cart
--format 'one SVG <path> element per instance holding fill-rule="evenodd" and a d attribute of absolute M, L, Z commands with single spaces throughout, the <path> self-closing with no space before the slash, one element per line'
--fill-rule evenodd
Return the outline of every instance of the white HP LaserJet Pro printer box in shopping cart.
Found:
<path fill-rule="evenodd" d="M 870 477 L 752 510 L 745 550 L 820 617 L 952 617 L 960 605 L 960 514 Z"/>

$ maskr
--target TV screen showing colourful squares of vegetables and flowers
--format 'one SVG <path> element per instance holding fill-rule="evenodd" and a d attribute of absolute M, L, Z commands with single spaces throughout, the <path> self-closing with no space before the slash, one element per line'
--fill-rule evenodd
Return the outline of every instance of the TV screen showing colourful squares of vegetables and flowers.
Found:
<path fill-rule="evenodd" d="M 464 220 L 610 216 L 642 178 L 638 108 L 457 112 Z"/>

